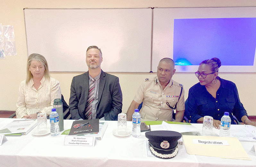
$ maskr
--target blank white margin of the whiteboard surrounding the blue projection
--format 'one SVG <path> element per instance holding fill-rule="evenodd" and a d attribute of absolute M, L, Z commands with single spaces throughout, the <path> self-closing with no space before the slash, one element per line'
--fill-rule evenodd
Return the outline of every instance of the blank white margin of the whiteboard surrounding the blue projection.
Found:
<path fill-rule="evenodd" d="M 164 57 L 173 58 L 174 19 L 238 18 L 238 17 L 256 18 L 256 6 L 154 8 L 153 10 L 154 10 L 153 49 L 152 49 L 152 59 L 154 60 L 152 61 L 153 72 L 157 71 L 158 62 L 162 58 Z M 161 33 L 160 30 L 166 30 L 167 33 L 163 34 Z M 199 65 L 188 65 L 188 66 L 175 65 L 176 72 L 196 72 L 198 70 L 198 67 Z M 220 67 L 220 72 L 239 72 L 239 73 L 256 72 L 256 52 L 254 55 L 254 63 L 252 66 L 222 65 Z"/>

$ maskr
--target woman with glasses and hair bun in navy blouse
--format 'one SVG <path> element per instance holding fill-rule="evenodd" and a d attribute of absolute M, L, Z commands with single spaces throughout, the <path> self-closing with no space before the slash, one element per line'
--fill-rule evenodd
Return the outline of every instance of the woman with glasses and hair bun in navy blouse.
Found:
<path fill-rule="evenodd" d="M 220 119 L 224 112 L 229 112 L 231 124 L 235 124 L 232 114 L 246 125 L 256 126 L 248 119 L 246 110 L 240 102 L 235 83 L 218 77 L 221 61 L 218 58 L 204 60 L 195 72 L 199 83 L 189 89 L 188 112 L 192 122 L 202 123 L 203 117 L 213 117 L 213 125 L 220 128 Z"/>

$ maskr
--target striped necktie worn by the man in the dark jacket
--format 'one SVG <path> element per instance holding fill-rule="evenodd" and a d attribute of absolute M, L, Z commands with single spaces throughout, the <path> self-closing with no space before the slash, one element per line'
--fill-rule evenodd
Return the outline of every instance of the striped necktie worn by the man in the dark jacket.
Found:
<path fill-rule="evenodd" d="M 95 88 L 95 79 L 91 79 L 91 83 L 89 86 L 89 93 L 87 98 L 87 103 L 85 106 L 85 118 L 91 119 L 91 110 L 92 110 L 92 102 L 93 102 L 93 96 L 94 96 L 94 88 Z"/>

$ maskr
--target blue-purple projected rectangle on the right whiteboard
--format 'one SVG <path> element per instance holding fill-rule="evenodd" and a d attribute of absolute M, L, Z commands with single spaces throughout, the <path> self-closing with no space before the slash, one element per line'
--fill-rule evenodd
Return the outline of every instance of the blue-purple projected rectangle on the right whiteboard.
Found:
<path fill-rule="evenodd" d="M 175 62 L 218 57 L 222 65 L 253 65 L 255 48 L 256 18 L 174 19 Z"/>

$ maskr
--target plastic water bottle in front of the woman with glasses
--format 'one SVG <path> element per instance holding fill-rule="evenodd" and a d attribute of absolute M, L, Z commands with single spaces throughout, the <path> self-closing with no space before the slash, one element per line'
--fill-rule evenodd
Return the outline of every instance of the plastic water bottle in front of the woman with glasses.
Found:
<path fill-rule="evenodd" d="M 220 121 L 220 131 L 219 136 L 229 136 L 231 119 L 229 113 L 225 112 Z"/>

